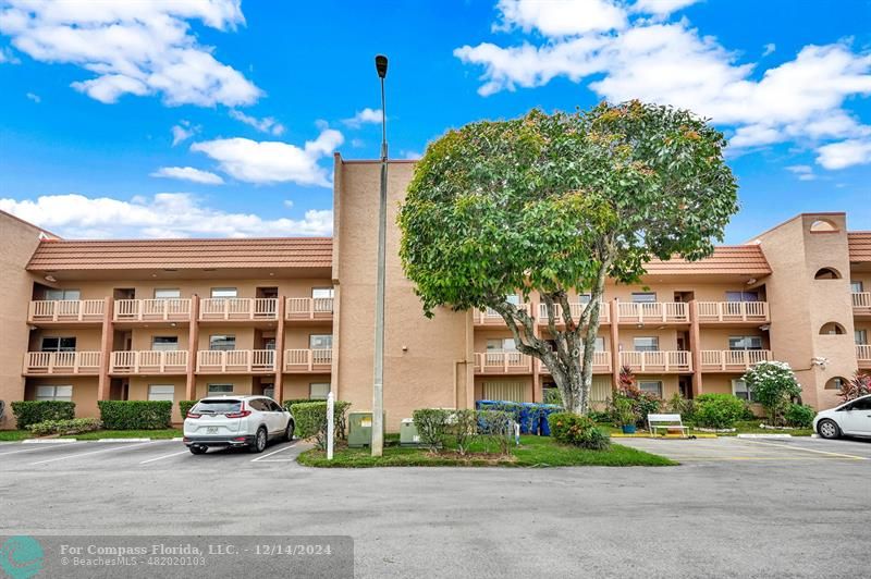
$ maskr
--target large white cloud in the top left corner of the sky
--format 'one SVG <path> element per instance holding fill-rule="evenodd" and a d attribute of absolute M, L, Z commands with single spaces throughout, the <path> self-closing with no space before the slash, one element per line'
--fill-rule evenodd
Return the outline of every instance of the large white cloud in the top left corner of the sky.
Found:
<path fill-rule="evenodd" d="M 9 0 L 0 33 L 35 60 L 72 63 L 94 78 L 72 87 L 100 102 L 161 95 L 170 106 L 250 104 L 261 91 L 200 46 L 188 20 L 219 30 L 245 23 L 240 0 L 93 2 Z"/>

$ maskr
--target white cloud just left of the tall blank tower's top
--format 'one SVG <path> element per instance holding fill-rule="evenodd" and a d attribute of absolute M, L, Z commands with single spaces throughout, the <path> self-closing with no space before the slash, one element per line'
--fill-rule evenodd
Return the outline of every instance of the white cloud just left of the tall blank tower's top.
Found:
<path fill-rule="evenodd" d="M 344 140 L 342 133 L 324 128 L 303 147 L 278 140 L 223 138 L 195 143 L 192 151 L 205 152 L 220 163 L 223 172 L 247 183 L 284 183 L 330 186 L 327 171 L 318 161 L 331 155 Z"/>

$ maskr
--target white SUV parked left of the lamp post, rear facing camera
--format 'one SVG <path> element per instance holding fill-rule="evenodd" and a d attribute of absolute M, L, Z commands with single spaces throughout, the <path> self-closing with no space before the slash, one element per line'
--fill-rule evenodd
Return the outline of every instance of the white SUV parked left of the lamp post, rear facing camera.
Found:
<path fill-rule="evenodd" d="M 291 412 L 266 396 L 209 396 L 184 419 L 184 443 L 193 454 L 211 446 L 247 446 L 262 453 L 270 439 L 293 440 Z"/>

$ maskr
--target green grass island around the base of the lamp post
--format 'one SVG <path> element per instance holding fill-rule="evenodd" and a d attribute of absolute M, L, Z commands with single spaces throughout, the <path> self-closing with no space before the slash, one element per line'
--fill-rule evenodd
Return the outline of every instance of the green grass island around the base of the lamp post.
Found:
<path fill-rule="evenodd" d="M 483 447 L 476 444 L 473 453 L 482 453 Z M 571 467 L 571 466 L 671 466 L 676 465 L 665 457 L 636 451 L 619 444 L 612 444 L 608 451 L 584 451 L 556 443 L 550 436 L 520 436 L 520 446 L 512 446 L 507 457 L 474 454 L 459 456 L 451 448 L 432 454 L 425 448 L 407 448 L 396 445 L 384 447 L 384 455 L 375 458 L 368 448 L 336 448 L 333 460 L 327 460 L 326 453 L 318 449 L 306 451 L 297 458 L 300 465 L 331 468 L 366 467 Z"/>

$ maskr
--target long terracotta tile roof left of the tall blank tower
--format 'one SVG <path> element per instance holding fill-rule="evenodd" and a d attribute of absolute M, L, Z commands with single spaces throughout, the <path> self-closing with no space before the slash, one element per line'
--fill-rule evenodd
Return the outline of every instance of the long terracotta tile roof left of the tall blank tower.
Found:
<path fill-rule="evenodd" d="M 28 270 L 329 268 L 331 237 L 44 241 Z"/>

